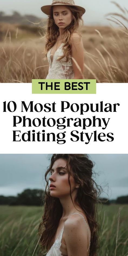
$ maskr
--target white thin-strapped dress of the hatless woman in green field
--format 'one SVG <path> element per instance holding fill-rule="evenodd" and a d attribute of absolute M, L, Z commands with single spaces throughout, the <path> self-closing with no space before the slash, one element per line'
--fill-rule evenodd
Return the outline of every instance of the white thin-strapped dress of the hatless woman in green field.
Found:
<path fill-rule="evenodd" d="M 87 225 L 86 220 L 84 219 L 84 217 L 79 213 L 73 213 L 73 214 L 78 214 L 82 217 L 82 219 L 84 220 L 84 222 L 86 224 L 87 230 L 89 232 L 89 228 L 88 228 L 88 225 Z M 73 215 L 73 214 L 71 214 L 71 215 Z M 69 217 L 71 215 L 69 215 Z M 54 244 L 52 245 L 52 247 L 50 248 L 50 250 L 46 254 L 46 256 L 62 256 L 62 253 L 60 251 L 60 247 L 61 247 L 61 240 L 62 240 L 63 230 L 64 230 L 64 225 L 63 225 L 62 230 L 60 231 L 58 237 L 56 238 Z M 89 240 L 90 240 L 90 233 L 89 233 Z M 90 248 L 90 243 L 89 243 L 89 247 L 87 249 L 87 252 L 89 251 L 89 248 Z"/>

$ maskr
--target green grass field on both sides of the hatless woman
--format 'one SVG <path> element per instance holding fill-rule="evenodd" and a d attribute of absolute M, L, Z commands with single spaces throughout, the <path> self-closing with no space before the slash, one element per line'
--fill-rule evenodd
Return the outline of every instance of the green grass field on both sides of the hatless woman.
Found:
<path fill-rule="evenodd" d="M 119 207 L 121 211 L 116 248 Z M 103 206 L 102 209 L 99 207 L 101 215 L 99 256 L 128 256 L 127 213 L 128 205 L 112 204 Z M 38 226 L 42 214 L 41 207 L 0 206 L 0 255 L 43 255 L 39 245 L 35 250 L 39 239 Z"/>

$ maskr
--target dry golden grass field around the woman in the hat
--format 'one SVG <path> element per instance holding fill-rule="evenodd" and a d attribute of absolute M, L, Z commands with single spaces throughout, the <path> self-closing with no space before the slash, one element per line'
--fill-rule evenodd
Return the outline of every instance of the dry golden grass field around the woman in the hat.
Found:
<path fill-rule="evenodd" d="M 128 30 L 119 24 L 118 28 L 82 27 L 85 79 L 96 79 L 98 83 L 128 82 Z M 33 33 L 28 27 L 25 30 L 18 24 L 0 23 L 0 40 L 1 83 L 31 83 L 32 79 L 46 78 L 48 60 L 43 53 L 45 38 L 41 28 Z"/>

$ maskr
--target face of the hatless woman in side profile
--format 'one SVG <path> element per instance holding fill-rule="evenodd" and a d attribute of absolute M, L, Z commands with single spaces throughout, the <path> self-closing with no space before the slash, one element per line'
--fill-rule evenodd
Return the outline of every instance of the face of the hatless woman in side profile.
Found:
<path fill-rule="evenodd" d="M 54 162 L 49 180 L 55 187 L 50 187 L 50 196 L 61 198 L 70 195 L 70 185 L 71 193 L 76 189 L 77 184 L 72 176 L 69 178 L 69 185 L 66 164 L 67 162 L 61 158 Z"/>

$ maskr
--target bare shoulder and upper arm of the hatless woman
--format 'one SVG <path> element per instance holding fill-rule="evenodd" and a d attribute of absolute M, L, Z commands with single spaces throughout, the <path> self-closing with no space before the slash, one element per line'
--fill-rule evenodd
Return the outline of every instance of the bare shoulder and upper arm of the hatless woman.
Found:
<path fill-rule="evenodd" d="M 73 216 L 65 221 L 64 239 L 68 256 L 87 256 L 89 233 L 81 217 Z"/>

